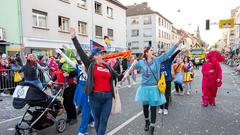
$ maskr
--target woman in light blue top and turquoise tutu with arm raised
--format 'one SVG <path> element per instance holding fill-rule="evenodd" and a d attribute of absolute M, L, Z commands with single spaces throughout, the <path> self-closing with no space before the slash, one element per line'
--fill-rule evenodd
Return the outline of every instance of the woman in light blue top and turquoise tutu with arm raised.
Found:
<path fill-rule="evenodd" d="M 165 96 L 160 93 L 158 89 L 158 80 L 160 78 L 161 63 L 169 59 L 176 48 L 182 43 L 183 38 L 172 45 L 172 47 L 163 55 L 155 57 L 153 48 L 147 47 L 144 50 L 143 59 L 133 62 L 130 69 L 126 72 L 123 79 L 126 79 L 127 75 L 131 72 L 133 67 L 140 69 L 142 76 L 141 85 L 139 86 L 135 100 L 143 104 L 143 113 L 145 117 L 145 131 L 149 131 L 150 135 L 154 134 L 157 106 L 160 106 L 166 102 Z M 151 111 L 151 120 L 149 120 L 149 108 Z"/>

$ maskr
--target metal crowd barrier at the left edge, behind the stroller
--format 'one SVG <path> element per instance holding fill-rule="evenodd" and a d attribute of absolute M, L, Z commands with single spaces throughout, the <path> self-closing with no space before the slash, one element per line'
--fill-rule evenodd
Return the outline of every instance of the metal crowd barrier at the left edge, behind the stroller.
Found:
<path fill-rule="evenodd" d="M 21 82 L 14 82 L 14 71 L 0 70 L 0 91 L 12 90 Z"/>

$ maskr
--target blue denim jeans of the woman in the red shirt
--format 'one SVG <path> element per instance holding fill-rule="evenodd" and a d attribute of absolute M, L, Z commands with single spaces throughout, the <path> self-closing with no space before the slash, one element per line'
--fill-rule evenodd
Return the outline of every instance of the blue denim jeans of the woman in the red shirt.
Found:
<path fill-rule="evenodd" d="M 112 110 L 112 92 L 96 92 L 90 96 L 90 106 L 97 135 L 104 135 Z"/>

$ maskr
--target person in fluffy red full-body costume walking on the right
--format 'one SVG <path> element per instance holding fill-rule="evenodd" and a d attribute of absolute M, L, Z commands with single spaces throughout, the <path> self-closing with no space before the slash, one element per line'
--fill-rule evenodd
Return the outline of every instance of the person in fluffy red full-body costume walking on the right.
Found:
<path fill-rule="evenodd" d="M 206 59 L 202 66 L 202 105 L 216 106 L 217 89 L 222 85 L 220 62 L 224 61 L 224 57 L 217 51 L 211 51 L 206 55 Z"/>

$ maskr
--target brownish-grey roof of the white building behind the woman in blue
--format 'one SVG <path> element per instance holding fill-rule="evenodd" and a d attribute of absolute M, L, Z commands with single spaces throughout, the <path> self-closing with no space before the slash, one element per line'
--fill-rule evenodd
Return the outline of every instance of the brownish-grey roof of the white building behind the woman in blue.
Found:
<path fill-rule="evenodd" d="M 157 11 L 153 11 L 150 7 L 148 7 L 147 2 L 143 2 L 141 4 L 134 4 L 134 5 L 129 5 L 127 6 L 127 17 L 128 16 L 138 16 L 138 15 L 147 15 L 147 14 L 157 14 L 167 20 L 169 23 L 173 24 L 170 20 L 168 20 L 166 17 L 161 15 Z"/>

